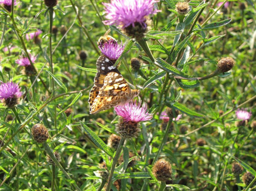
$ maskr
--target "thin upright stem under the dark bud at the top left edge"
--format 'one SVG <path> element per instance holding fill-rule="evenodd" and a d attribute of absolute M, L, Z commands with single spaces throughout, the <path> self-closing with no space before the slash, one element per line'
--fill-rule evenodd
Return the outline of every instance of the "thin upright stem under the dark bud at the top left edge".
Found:
<path fill-rule="evenodd" d="M 53 12 L 54 9 L 53 7 L 49 8 L 49 16 L 50 16 L 50 66 L 51 66 L 51 72 L 54 75 L 53 72 L 53 52 L 52 52 L 52 29 L 53 29 Z M 55 96 L 55 87 L 54 87 L 54 78 L 52 77 L 52 90 L 53 90 L 53 97 Z M 57 105 L 54 104 L 54 125 L 55 125 L 55 129 L 57 128 Z"/>

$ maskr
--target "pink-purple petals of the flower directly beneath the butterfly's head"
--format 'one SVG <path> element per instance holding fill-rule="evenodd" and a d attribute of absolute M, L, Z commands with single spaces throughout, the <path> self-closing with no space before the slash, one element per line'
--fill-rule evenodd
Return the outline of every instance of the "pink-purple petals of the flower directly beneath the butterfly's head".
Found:
<path fill-rule="evenodd" d="M 130 102 L 125 105 L 118 105 L 114 108 L 117 115 L 123 117 L 123 121 L 132 121 L 138 123 L 140 121 L 146 121 L 152 119 L 153 115 L 147 110 L 147 106 L 141 107 L 141 101 L 136 104 L 136 102 Z"/>

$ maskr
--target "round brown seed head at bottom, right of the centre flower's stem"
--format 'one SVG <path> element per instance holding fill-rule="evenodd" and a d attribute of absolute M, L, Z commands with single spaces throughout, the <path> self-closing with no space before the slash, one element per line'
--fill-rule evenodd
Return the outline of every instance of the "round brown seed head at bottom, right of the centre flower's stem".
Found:
<path fill-rule="evenodd" d="M 168 181 L 172 176 L 172 166 L 168 161 L 159 159 L 153 165 L 152 172 L 158 181 Z"/>

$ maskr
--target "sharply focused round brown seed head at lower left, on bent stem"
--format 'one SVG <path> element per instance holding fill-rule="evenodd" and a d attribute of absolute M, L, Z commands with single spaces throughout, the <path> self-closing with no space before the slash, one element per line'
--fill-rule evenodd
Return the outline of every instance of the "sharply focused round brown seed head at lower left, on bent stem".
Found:
<path fill-rule="evenodd" d="M 38 143 L 44 143 L 48 137 L 48 130 L 43 124 L 36 124 L 31 129 L 34 140 Z"/>

